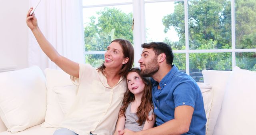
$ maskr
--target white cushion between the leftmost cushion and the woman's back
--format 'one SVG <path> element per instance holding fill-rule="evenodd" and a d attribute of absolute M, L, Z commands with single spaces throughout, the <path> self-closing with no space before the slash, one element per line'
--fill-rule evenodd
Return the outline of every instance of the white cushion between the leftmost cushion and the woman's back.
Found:
<path fill-rule="evenodd" d="M 41 127 L 58 127 L 74 102 L 78 86 L 70 75 L 62 70 L 45 69 L 47 87 L 47 109 Z"/>

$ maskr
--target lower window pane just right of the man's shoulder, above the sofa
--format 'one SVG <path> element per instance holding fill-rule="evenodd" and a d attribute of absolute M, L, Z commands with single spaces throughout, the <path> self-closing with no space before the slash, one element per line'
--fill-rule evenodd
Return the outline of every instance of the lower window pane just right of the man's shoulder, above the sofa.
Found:
<path fill-rule="evenodd" d="M 190 76 L 202 82 L 202 70 L 231 70 L 232 53 L 191 53 L 189 54 Z"/>

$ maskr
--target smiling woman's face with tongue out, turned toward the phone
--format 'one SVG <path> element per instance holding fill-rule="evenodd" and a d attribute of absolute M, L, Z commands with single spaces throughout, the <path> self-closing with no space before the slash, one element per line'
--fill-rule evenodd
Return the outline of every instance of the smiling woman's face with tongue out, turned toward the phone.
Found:
<path fill-rule="evenodd" d="M 112 67 L 121 69 L 123 64 L 128 62 L 128 58 L 124 58 L 123 50 L 121 45 L 118 42 L 112 42 L 105 53 L 105 62 L 106 67 Z"/>

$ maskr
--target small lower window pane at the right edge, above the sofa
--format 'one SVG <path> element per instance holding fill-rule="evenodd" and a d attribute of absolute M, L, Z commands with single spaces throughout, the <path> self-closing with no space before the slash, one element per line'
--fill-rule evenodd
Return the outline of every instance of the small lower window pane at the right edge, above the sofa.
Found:
<path fill-rule="evenodd" d="M 241 69 L 256 71 L 256 52 L 236 53 L 236 66 Z"/>

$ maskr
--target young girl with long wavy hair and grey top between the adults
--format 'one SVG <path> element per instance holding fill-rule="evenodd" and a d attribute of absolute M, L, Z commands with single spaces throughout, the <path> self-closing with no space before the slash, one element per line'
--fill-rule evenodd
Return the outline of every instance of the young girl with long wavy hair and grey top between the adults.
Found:
<path fill-rule="evenodd" d="M 155 123 L 149 78 L 141 76 L 140 68 L 132 68 L 127 73 L 126 80 L 129 90 L 124 94 L 114 135 L 118 135 L 123 129 L 149 129 Z"/>

